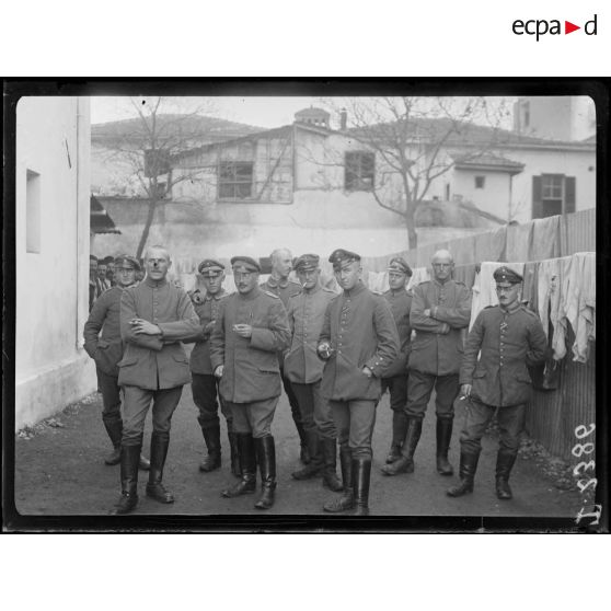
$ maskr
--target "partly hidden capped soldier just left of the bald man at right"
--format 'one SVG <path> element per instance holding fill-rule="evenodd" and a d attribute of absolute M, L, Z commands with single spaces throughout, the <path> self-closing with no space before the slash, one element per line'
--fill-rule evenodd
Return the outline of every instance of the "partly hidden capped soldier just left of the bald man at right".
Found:
<path fill-rule="evenodd" d="M 412 342 L 412 327 L 410 326 L 412 292 L 407 291 L 406 285 L 412 277 L 412 268 L 403 257 L 395 256 L 389 262 L 388 273 L 390 288 L 384 292 L 384 298 L 391 307 L 401 346 L 399 358 L 382 378 L 382 393 L 389 389 L 392 410 L 392 442 L 387 457 L 387 463 L 390 464 L 401 458 L 401 447 L 407 431 L 405 406 L 407 404 L 407 358 Z"/>

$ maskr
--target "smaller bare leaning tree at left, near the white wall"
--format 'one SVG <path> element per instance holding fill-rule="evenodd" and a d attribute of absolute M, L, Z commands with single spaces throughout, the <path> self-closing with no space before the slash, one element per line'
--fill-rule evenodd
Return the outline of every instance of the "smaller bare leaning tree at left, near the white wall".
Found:
<path fill-rule="evenodd" d="M 136 256 L 141 257 L 155 210 L 173 186 L 193 178 L 193 172 L 173 173 L 172 157 L 201 145 L 207 132 L 205 123 L 194 122 L 212 112 L 214 103 L 200 99 L 184 111 L 180 100 L 171 97 L 137 97 L 129 100 L 135 118 L 124 122 L 123 128 L 105 138 L 106 161 L 123 163 L 135 177 L 140 193 L 148 200 L 147 217 L 138 242 Z M 173 111 L 173 112 L 172 112 Z M 126 127 L 126 125 L 128 127 Z"/>

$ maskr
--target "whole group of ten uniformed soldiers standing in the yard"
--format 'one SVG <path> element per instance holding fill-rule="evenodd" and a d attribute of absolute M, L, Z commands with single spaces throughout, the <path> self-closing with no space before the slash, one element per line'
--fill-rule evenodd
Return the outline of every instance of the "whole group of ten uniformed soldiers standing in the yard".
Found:
<path fill-rule="evenodd" d="M 447 492 L 473 491 L 487 424 L 497 414 L 496 493 L 510 499 L 509 474 L 518 452 L 530 390 L 529 365 L 541 362 L 546 338 L 535 313 L 520 301 L 522 278 L 506 266 L 495 274 L 498 306 L 477 315 L 471 332 L 471 291 L 453 279 L 448 251 L 431 258 L 433 279 L 407 290 L 412 269 L 389 262 L 389 290 L 362 281 L 357 253 L 328 257 L 341 293 L 321 279 L 320 258 L 272 253 L 272 274 L 260 284 L 260 263 L 231 258 L 235 292 L 223 287 L 226 267 L 207 258 L 198 266 L 205 292 L 186 293 L 168 281 L 172 264 L 163 246 L 138 260 L 114 261 L 116 286 L 93 303 L 85 349 L 95 360 L 103 422 L 120 463 L 122 494 L 114 512 L 138 503 L 138 470 L 149 471 L 147 496 L 173 503 L 162 483 L 171 419 L 183 385 L 192 384 L 207 457 L 201 472 L 221 466 L 219 405 L 227 420 L 232 498 L 261 492 L 258 509 L 274 505 L 277 483 L 272 423 L 284 388 L 300 438 L 298 481 L 322 477 L 335 494 L 327 512 L 369 514 L 376 411 L 385 390 L 393 412 L 384 475 L 414 471 L 427 404 L 436 391 L 436 466 L 453 475 L 448 460 L 454 403 L 465 402 L 460 435 L 460 482 Z M 289 278 L 291 270 L 298 283 Z M 466 339 L 465 339 L 466 336 Z M 183 343 L 193 343 L 191 357 Z M 145 419 L 152 405 L 150 464 L 141 454 Z M 338 452 L 337 452 L 338 446 Z M 337 454 L 341 477 L 337 476 Z"/>

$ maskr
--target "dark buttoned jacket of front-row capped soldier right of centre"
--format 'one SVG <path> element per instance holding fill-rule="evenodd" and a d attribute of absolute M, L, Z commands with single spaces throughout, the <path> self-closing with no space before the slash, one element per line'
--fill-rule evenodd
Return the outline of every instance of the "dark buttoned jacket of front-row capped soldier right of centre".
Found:
<path fill-rule="evenodd" d="M 319 338 L 335 353 L 324 367 L 322 393 L 327 400 L 380 399 L 380 378 L 399 355 L 399 333 L 390 306 L 362 283 L 335 297 L 326 308 Z M 373 377 L 362 373 L 368 367 Z"/>

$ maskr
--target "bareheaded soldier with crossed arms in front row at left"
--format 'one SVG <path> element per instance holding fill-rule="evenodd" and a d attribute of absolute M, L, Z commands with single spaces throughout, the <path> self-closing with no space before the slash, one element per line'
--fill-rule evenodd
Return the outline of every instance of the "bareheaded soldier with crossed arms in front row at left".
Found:
<path fill-rule="evenodd" d="M 145 256 L 147 276 L 125 289 L 120 298 L 120 336 L 126 344 L 118 383 L 124 391 L 120 447 L 122 497 L 117 514 L 138 503 L 138 460 L 145 418 L 152 402 L 151 468 L 147 496 L 173 503 L 162 484 L 170 445 L 172 414 L 183 384 L 191 382 L 183 339 L 199 332 L 199 320 L 186 292 L 168 281 L 172 265 L 163 246 L 150 246 Z"/>

